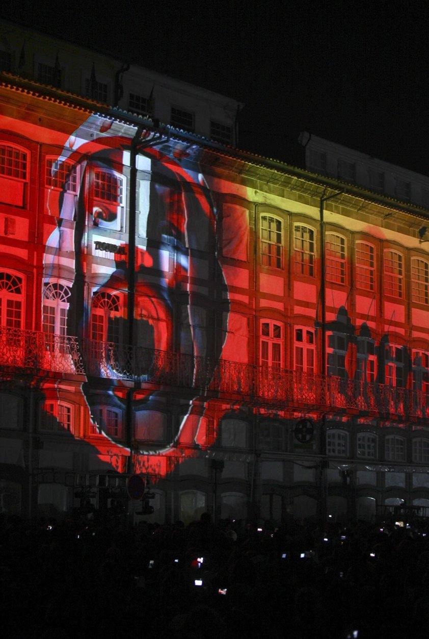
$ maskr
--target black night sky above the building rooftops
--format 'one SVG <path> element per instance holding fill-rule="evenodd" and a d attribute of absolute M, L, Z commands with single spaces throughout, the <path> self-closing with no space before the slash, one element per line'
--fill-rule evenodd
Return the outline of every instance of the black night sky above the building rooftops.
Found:
<path fill-rule="evenodd" d="M 17 0 L 7 11 L 245 102 L 245 150 L 293 161 L 306 129 L 429 174 L 426 0 Z"/>

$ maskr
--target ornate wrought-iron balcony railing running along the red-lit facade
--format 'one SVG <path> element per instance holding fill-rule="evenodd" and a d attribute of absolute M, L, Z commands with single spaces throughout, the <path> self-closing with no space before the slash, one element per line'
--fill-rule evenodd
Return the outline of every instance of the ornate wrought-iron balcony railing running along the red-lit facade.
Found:
<path fill-rule="evenodd" d="M 0 328 L 0 371 L 45 371 L 139 381 L 215 394 L 267 406 L 356 410 L 398 417 L 428 417 L 429 394 L 335 376 L 259 367 L 184 353 L 77 337 Z"/>

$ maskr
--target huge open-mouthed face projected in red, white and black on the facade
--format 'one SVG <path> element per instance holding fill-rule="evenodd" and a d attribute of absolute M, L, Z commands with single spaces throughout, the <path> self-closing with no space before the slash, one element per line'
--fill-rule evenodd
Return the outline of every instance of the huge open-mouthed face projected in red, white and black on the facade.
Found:
<path fill-rule="evenodd" d="M 216 212 L 197 148 L 142 144 L 135 250 L 130 247 L 131 144 L 125 127 L 91 116 L 52 164 L 52 179 L 61 174 L 64 187 L 57 201 L 49 194 L 59 220 L 47 243 L 44 286 L 70 289 L 66 334 L 82 344 L 82 392 L 94 431 L 109 438 L 110 450 L 123 450 L 114 419 L 126 414 L 131 401 L 133 470 L 151 472 L 163 466 L 160 457 L 179 459 L 207 445 L 199 397 L 182 399 L 180 415 L 176 399 L 176 426 L 172 441 L 166 439 L 160 415 L 172 413 L 172 405 L 160 385 L 206 385 L 222 352 L 228 302 L 220 265 L 215 261 L 209 268 Z M 125 346 L 130 341 L 133 348 Z"/>

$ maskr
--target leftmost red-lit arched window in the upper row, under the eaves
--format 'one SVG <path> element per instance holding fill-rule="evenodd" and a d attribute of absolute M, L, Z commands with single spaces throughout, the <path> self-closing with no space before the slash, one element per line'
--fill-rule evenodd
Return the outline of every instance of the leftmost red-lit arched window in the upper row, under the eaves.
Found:
<path fill-rule="evenodd" d="M 0 200 L 24 206 L 28 181 L 28 153 L 11 144 L 0 144 Z"/>

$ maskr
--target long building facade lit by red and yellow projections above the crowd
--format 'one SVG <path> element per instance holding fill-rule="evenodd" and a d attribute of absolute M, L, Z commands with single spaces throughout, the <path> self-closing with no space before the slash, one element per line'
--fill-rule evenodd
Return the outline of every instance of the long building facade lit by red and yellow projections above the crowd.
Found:
<path fill-rule="evenodd" d="M 3 75 L 1 510 L 429 505 L 427 217 Z"/>

